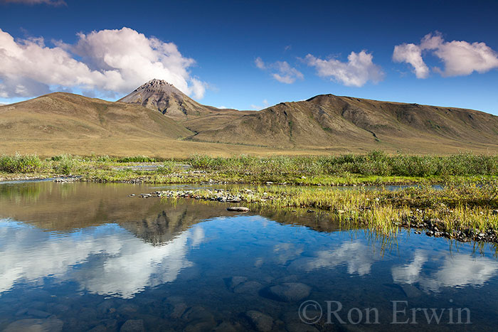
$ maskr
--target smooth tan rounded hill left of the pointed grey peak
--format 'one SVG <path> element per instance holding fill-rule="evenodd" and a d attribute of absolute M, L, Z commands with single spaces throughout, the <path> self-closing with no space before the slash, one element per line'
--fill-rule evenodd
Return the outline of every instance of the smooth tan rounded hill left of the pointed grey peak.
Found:
<path fill-rule="evenodd" d="M 177 139 L 190 134 L 151 109 L 65 92 L 0 107 L 1 139 Z"/>

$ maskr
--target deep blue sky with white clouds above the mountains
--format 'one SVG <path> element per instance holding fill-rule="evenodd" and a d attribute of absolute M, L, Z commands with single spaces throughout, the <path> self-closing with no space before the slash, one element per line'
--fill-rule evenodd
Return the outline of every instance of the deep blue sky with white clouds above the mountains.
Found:
<path fill-rule="evenodd" d="M 332 93 L 498 115 L 498 1 L 403 2 L 0 0 L 0 102 L 116 100 L 157 73 L 216 107 Z"/>

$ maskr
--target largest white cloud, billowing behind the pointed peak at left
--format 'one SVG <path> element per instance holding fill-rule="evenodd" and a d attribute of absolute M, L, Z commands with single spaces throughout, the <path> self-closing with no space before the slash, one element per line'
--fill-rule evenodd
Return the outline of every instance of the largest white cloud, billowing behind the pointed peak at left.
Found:
<path fill-rule="evenodd" d="M 59 41 L 48 47 L 43 38 L 14 40 L 0 29 L 0 97 L 33 97 L 54 86 L 122 95 L 152 78 L 203 97 L 206 83 L 189 72 L 195 60 L 181 55 L 174 43 L 126 27 L 78 33 L 78 38 L 74 45 Z"/>

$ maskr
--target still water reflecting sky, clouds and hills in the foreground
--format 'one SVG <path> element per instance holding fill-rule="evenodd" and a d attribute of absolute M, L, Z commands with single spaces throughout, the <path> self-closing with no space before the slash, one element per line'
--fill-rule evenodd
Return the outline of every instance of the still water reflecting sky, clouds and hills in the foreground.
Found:
<path fill-rule="evenodd" d="M 314 214 L 241 215 L 223 203 L 129 197 L 163 188 L 171 186 L 0 184 L 0 330 L 498 326 L 490 245 L 406 230 L 386 239 Z"/>

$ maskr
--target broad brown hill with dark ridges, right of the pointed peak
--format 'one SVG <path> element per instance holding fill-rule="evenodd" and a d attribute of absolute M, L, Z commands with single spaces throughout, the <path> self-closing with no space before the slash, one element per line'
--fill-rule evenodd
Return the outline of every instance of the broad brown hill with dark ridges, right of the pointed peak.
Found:
<path fill-rule="evenodd" d="M 242 117 L 193 141 L 275 147 L 440 151 L 498 149 L 498 117 L 470 109 L 319 95 Z"/>

